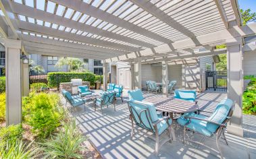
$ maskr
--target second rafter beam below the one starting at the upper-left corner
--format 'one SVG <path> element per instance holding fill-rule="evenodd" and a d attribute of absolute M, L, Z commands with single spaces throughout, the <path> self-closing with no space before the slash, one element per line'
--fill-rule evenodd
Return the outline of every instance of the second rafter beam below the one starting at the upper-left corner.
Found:
<path fill-rule="evenodd" d="M 113 50 L 113 49 L 107 49 L 107 48 L 101 48 L 97 46 L 90 46 L 90 45 L 83 45 L 83 44 L 75 44 L 71 42 L 63 42 L 59 40 L 53 40 L 49 38 L 41 38 L 37 36 L 30 36 L 26 34 L 20 34 L 23 40 L 28 41 L 28 42 L 37 42 L 37 43 L 42 43 L 42 44 L 52 44 L 55 46 L 66 46 L 70 48 L 75 48 L 75 49 L 82 49 L 86 51 L 99 51 L 103 53 L 108 53 L 109 55 L 124 55 L 128 52 L 125 51 L 118 51 L 118 50 Z"/>

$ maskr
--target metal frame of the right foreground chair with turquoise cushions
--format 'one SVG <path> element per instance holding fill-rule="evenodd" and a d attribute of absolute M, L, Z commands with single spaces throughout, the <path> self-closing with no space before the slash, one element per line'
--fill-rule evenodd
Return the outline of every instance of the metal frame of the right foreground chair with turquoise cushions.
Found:
<path fill-rule="evenodd" d="M 210 148 L 209 146 L 206 146 L 205 144 L 201 143 L 201 142 L 198 142 L 198 141 L 192 141 L 192 140 L 188 140 L 188 139 L 185 139 L 185 135 L 186 135 L 186 131 L 193 131 L 193 133 L 198 133 L 197 131 L 194 131 L 193 129 L 189 129 L 188 127 L 186 127 L 186 125 L 184 125 L 184 130 L 183 130 L 183 144 L 184 144 L 184 141 L 190 141 L 190 142 L 193 142 L 195 144 L 199 144 L 201 146 L 205 146 L 205 148 L 208 148 L 210 150 L 213 150 L 215 152 L 218 152 L 220 154 L 220 158 L 223 158 L 223 155 L 222 155 L 222 151 L 220 150 L 220 144 L 219 144 L 219 139 L 220 139 L 220 136 L 223 135 L 224 137 L 224 140 L 226 141 L 226 144 L 228 146 L 228 141 L 226 139 L 226 135 L 224 133 L 224 129 L 226 129 L 226 126 L 227 126 L 227 123 L 228 121 L 230 121 L 230 119 L 232 118 L 232 114 L 234 112 L 234 104 L 236 102 L 233 102 L 232 104 L 232 107 L 230 108 L 230 111 L 228 113 L 228 116 L 226 117 L 226 119 L 220 124 L 220 123 L 216 123 L 216 122 L 213 122 L 213 121 L 209 121 L 207 119 L 201 119 L 201 118 L 197 118 L 197 117 L 184 117 L 185 119 L 188 119 L 189 122 L 186 124 L 188 125 L 189 123 L 191 123 L 190 119 L 196 119 L 196 120 L 199 120 L 199 121 L 207 121 L 209 123 L 213 123 L 213 124 L 216 124 L 216 125 L 219 125 L 220 127 L 217 128 L 217 130 L 215 131 L 215 133 L 213 133 L 213 135 L 216 135 L 216 145 L 217 145 L 217 150 L 213 150 L 213 148 Z M 209 111 L 205 111 L 205 110 L 199 110 L 199 112 L 205 112 L 205 113 L 213 113 L 213 112 L 209 112 Z M 201 134 L 201 133 L 199 133 Z M 203 135 L 203 134 L 201 134 Z M 207 137 L 207 136 L 205 136 Z"/>

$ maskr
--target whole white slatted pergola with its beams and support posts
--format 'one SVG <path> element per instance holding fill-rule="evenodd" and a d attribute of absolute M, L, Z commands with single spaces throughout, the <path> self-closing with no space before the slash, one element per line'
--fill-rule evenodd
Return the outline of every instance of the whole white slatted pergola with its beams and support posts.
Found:
<path fill-rule="evenodd" d="M 1 0 L 0 9 L 8 124 L 21 122 L 20 92 L 28 88 L 19 78 L 27 67 L 20 71 L 21 52 L 100 59 L 103 70 L 130 62 L 134 88 L 141 86 L 142 63 L 162 62 L 165 94 L 168 62 L 227 53 L 228 98 L 236 100 L 228 131 L 242 135 L 242 48 L 251 48 L 243 38 L 255 35 L 256 24 L 241 26 L 236 0 Z"/>

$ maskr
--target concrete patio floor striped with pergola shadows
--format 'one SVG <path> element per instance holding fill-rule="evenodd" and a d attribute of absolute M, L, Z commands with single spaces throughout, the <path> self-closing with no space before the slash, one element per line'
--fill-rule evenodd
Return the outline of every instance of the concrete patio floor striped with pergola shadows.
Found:
<path fill-rule="evenodd" d="M 147 94 L 148 99 L 163 99 L 161 94 Z M 127 92 L 124 92 L 127 97 Z M 162 99 L 161 99 L 162 98 Z M 226 98 L 225 92 L 204 92 L 197 95 L 201 108 L 213 110 L 220 100 Z M 157 101 L 156 101 L 157 102 Z M 91 140 L 103 158 L 220 158 L 215 152 L 217 146 L 215 137 L 205 138 L 197 133 L 188 132 L 186 138 L 200 141 L 213 148 L 209 150 L 198 144 L 182 144 L 183 128 L 175 123 L 176 141 L 166 143 L 159 150 L 159 156 L 155 156 L 155 141 L 143 135 L 135 133 L 134 139 L 130 138 L 131 123 L 127 103 L 118 100 L 116 112 L 113 106 L 94 110 L 93 104 L 88 103 L 84 112 L 83 106 L 75 109 L 74 115 L 77 125 Z M 223 139 L 220 139 L 220 147 L 224 158 L 256 158 L 256 117 L 252 115 L 243 116 L 244 137 L 237 137 L 226 133 L 229 146 L 226 146 Z M 150 134 L 150 133 L 149 133 Z M 167 137 L 162 134 L 161 137 Z"/>

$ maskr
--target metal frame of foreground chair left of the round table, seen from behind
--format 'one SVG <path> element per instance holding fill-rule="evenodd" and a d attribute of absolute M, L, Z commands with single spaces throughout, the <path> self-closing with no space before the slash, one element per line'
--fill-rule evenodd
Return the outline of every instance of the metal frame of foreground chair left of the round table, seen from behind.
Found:
<path fill-rule="evenodd" d="M 134 123 L 133 123 L 133 121 L 134 121 L 135 124 L 138 127 L 146 129 L 147 131 L 150 131 L 151 133 L 155 134 L 155 138 L 154 138 L 154 137 L 148 135 L 147 133 L 144 133 L 143 131 L 140 131 L 139 129 L 136 129 L 136 131 L 142 132 L 143 134 L 147 135 L 147 137 L 149 137 L 149 138 L 151 138 L 155 141 L 155 154 L 158 155 L 159 149 L 161 148 L 161 146 L 163 146 L 163 144 L 165 144 L 168 141 L 171 143 L 172 140 L 175 140 L 174 133 L 172 133 L 172 131 L 174 131 L 174 130 L 172 130 L 172 124 L 170 124 L 169 121 L 168 121 L 168 119 L 170 119 L 170 117 L 165 116 L 162 119 L 159 119 L 155 122 L 152 122 L 151 115 L 149 113 L 149 108 L 141 110 L 140 113 L 138 114 L 136 112 L 136 110 L 134 110 L 134 108 L 130 105 L 130 103 L 131 102 L 128 102 L 128 108 L 130 110 L 130 120 L 132 122 L 132 131 L 131 131 L 131 134 L 130 134 L 131 138 L 133 138 L 133 136 L 134 136 L 134 129 L 135 129 Z M 139 104 L 139 105 L 145 106 L 144 104 Z M 134 113 L 132 112 L 132 110 L 134 110 L 134 112 L 136 113 L 136 117 L 138 117 L 138 119 L 140 120 L 140 123 L 138 123 L 136 121 L 136 118 L 135 118 Z M 147 122 L 149 123 L 150 127 L 147 127 L 141 119 L 141 115 L 142 115 L 143 112 L 145 112 L 145 114 L 146 114 Z M 168 138 L 164 139 L 163 141 L 160 141 L 159 140 L 159 133 L 158 133 L 158 129 L 157 129 L 157 124 L 160 123 L 163 120 L 166 120 L 166 123 L 168 124 L 168 128 L 166 129 L 166 130 L 168 130 Z"/>

